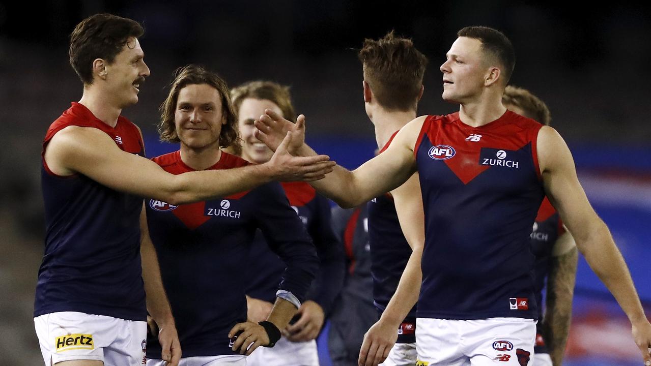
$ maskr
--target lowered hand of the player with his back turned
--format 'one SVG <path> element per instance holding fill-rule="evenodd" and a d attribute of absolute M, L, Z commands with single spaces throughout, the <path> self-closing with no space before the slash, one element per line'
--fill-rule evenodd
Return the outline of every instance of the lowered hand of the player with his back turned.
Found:
<path fill-rule="evenodd" d="M 359 350 L 359 366 L 378 366 L 389 356 L 389 351 L 398 340 L 398 326 L 378 320 L 364 335 Z"/>

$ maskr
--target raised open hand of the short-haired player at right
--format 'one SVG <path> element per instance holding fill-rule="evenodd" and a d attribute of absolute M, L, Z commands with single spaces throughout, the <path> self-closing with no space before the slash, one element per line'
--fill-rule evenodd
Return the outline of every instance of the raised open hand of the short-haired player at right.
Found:
<path fill-rule="evenodd" d="M 276 151 L 282 144 L 283 138 L 291 132 L 292 143 L 287 146 L 287 151 L 292 155 L 298 155 L 299 149 L 305 143 L 305 116 L 301 114 L 296 118 L 296 124 L 286 120 L 280 114 L 265 109 L 260 119 L 255 121 L 257 131 L 254 135 L 258 140 L 264 142 L 271 150 Z"/>

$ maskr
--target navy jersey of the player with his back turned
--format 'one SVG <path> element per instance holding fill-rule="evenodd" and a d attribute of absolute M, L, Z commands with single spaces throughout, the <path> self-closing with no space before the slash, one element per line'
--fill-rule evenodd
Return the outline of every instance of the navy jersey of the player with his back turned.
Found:
<path fill-rule="evenodd" d="M 387 150 L 396 131 L 380 153 Z M 405 239 L 398 221 L 398 213 L 391 194 L 383 194 L 368 202 L 368 240 L 370 243 L 371 274 L 373 276 L 373 299 L 378 311 L 387 308 L 389 300 L 398 288 L 398 282 L 411 255 L 411 247 Z M 405 322 L 416 321 L 414 305 Z M 398 343 L 415 342 L 415 333 L 402 333 Z"/>

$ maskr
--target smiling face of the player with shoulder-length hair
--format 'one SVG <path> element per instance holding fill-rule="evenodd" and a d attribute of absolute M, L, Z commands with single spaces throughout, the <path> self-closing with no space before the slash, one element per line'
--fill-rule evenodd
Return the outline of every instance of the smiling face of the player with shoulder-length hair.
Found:
<path fill-rule="evenodd" d="M 219 91 L 207 84 L 191 84 L 178 92 L 174 125 L 182 146 L 192 150 L 219 149 L 226 124 Z"/>

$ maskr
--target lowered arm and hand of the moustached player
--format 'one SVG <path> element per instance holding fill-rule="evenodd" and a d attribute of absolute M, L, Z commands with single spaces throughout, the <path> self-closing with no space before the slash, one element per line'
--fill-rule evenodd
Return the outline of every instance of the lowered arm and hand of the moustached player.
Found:
<path fill-rule="evenodd" d="M 176 333 L 176 324 L 174 324 L 172 310 L 163 288 L 156 249 L 149 237 L 145 207 L 140 215 L 140 231 L 140 255 L 143 263 L 147 311 L 159 328 L 158 340 L 162 348 L 161 359 L 168 361 L 170 365 L 178 365 L 181 348 Z"/>

